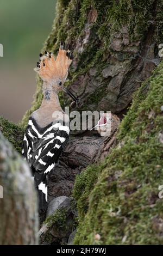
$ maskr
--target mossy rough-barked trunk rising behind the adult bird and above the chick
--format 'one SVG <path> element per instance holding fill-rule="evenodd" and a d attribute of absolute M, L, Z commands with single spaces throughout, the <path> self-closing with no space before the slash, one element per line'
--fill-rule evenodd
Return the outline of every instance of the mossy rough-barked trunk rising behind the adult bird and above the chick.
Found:
<path fill-rule="evenodd" d="M 161 0 L 58 0 L 57 17 L 43 47 L 57 53 L 60 41 L 72 47 L 74 60 L 66 85 L 83 99 L 83 108 L 121 112 L 141 81 L 151 75 L 162 42 Z M 37 82 L 34 105 L 40 106 Z M 60 95 L 62 105 L 70 99 Z"/>

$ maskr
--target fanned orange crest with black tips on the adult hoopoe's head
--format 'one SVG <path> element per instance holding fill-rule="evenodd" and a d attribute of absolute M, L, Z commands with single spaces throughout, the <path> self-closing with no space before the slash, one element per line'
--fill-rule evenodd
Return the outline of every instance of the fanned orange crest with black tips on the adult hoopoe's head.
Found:
<path fill-rule="evenodd" d="M 59 53 L 55 59 L 53 53 L 40 53 L 40 62 L 37 62 L 37 68 L 34 70 L 39 74 L 43 81 L 51 84 L 53 89 L 59 90 L 68 76 L 68 68 L 72 63 L 72 54 L 70 50 L 64 50 L 64 44 L 61 42 Z"/>

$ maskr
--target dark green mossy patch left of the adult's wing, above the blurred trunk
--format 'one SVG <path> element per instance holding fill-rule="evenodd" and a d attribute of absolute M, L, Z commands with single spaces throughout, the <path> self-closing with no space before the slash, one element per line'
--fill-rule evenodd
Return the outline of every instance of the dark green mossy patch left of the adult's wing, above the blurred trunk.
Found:
<path fill-rule="evenodd" d="M 4 117 L 0 117 L 0 130 L 5 138 L 14 145 L 15 149 L 21 153 L 24 136 L 24 130 L 22 127 L 8 121 Z"/>

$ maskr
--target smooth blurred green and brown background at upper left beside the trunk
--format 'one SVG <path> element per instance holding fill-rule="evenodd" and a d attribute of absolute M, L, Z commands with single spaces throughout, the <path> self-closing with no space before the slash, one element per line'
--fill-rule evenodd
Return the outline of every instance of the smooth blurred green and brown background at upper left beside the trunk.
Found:
<path fill-rule="evenodd" d="M 57 0 L 0 0 L 0 115 L 21 120 L 35 92 L 34 67 L 51 32 Z"/>

